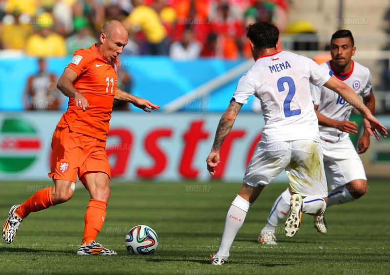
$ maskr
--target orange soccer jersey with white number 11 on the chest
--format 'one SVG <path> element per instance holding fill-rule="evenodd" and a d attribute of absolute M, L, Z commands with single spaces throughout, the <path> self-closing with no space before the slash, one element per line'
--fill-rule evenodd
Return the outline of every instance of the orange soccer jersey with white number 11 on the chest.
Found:
<path fill-rule="evenodd" d="M 87 98 L 89 108 L 83 111 L 73 97 L 69 98 L 68 109 L 57 126 L 103 141 L 107 139 L 117 89 L 117 62 L 117 59 L 111 62 L 102 59 L 96 44 L 75 52 L 66 68 L 77 73 L 73 84 Z"/>

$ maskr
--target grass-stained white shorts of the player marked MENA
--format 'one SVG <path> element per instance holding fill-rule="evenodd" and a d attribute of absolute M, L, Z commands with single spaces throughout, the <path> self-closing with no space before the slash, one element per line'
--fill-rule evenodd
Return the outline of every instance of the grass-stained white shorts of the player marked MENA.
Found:
<path fill-rule="evenodd" d="M 328 197 L 322 147 L 313 140 L 258 142 L 245 172 L 244 183 L 267 185 L 283 170 L 293 193 Z"/>

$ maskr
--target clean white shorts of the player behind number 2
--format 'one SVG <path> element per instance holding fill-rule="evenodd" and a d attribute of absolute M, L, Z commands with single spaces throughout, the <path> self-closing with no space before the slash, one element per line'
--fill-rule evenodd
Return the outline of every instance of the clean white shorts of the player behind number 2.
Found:
<path fill-rule="evenodd" d="M 367 180 L 363 163 L 350 139 L 336 143 L 321 140 L 329 190 L 353 180 Z"/>

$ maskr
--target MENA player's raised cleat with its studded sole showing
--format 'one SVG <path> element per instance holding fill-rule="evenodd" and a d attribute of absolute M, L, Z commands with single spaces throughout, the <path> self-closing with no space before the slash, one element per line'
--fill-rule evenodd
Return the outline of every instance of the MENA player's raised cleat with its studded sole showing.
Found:
<path fill-rule="evenodd" d="M 293 237 L 299 230 L 302 220 L 302 197 L 299 194 L 293 194 L 290 199 L 290 214 L 284 224 L 284 232 L 287 237 Z"/>

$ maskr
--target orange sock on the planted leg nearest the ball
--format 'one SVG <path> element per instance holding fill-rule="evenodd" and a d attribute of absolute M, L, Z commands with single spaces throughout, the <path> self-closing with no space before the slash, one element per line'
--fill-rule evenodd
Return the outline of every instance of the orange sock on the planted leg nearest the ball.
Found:
<path fill-rule="evenodd" d="M 96 239 L 106 219 L 106 208 L 107 202 L 89 200 L 87 213 L 85 213 L 85 227 L 81 245 L 88 245 Z"/>

